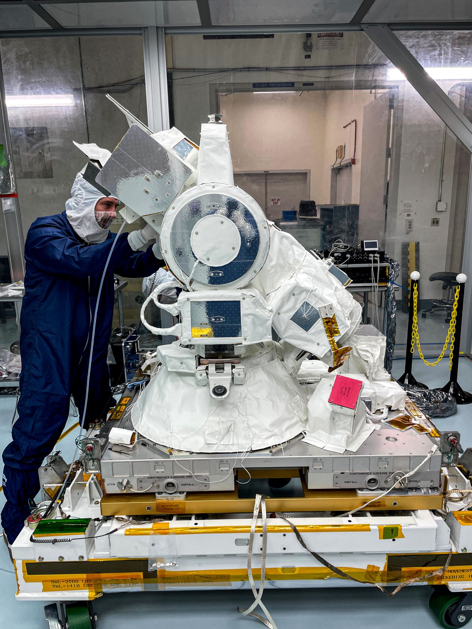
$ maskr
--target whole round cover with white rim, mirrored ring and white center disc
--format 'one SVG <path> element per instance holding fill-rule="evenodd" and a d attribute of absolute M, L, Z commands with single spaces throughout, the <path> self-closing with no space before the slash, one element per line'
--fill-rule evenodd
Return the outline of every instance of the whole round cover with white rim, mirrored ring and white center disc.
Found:
<path fill-rule="evenodd" d="M 172 272 L 193 287 L 241 288 L 266 261 L 269 228 L 262 209 L 240 188 L 201 184 L 167 211 L 160 248 Z"/>

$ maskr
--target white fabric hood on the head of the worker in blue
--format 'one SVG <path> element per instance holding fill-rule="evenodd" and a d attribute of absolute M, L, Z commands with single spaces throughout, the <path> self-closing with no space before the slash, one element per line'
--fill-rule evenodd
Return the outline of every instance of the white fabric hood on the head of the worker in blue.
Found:
<path fill-rule="evenodd" d="M 106 196 L 99 192 L 81 173 L 77 173 L 70 191 L 72 197 L 65 202 L 65 216 L 77 236 L 87 243 L 103 242 L 108 236 L 108 228 L 102 229 L 95 219 L 95 205 Z"/>

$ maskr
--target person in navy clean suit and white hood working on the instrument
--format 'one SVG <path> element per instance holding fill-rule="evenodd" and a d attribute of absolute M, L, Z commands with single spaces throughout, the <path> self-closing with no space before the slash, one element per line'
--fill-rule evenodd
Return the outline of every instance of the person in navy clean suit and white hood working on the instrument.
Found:
<path fill-rule="evenodd" d="M 106 260 L 116 238 L 108 230 L 118 199 L 105 197 L 77 174 L 65 212 L 38 218 L 25 243 L 25 297 L 21 308 L 21 396 L 13 440 L 3 453 L 1 514 L 13 543 L 39 490 L 38 467 L 52 451 L 69 416 L 70 396 L 81 423 L 113 406 L 106 357 L 110 340 L 114 274 L 145 277 L 164 265 L 156 243 L 138 251 L 155 231 L 118 236 L 98 303 L 87 408 L 84 409 L 92 322 Z"/>

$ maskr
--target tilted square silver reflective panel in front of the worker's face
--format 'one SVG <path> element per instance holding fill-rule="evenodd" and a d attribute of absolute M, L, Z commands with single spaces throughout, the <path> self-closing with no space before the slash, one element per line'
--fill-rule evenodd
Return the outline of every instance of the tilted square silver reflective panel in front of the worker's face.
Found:
<path fill-rule="evenodd" d="M 135 213 L 147 216 L 166 211 L 191 172 L 162 144 L 132 125 L 96 181 Z"/>

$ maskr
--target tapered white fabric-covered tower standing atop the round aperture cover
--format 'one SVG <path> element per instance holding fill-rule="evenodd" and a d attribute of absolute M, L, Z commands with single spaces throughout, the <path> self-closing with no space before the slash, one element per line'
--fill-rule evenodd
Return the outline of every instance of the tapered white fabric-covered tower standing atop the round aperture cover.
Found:
<path fill-rule="evenodd" d="M 197 186 L 199 184 L 229 184 L 234 186 L 233 165 L 226 125 L 201 125 L 198 153 Z"/>

